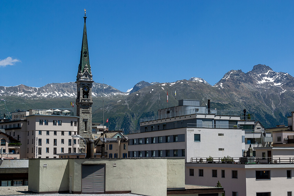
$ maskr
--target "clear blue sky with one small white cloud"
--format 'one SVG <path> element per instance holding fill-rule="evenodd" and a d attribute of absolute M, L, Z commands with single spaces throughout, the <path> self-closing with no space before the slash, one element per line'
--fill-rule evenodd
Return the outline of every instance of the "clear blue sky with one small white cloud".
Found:
<path fill-rule="evenodd" d="M 0 86 L 74 82 L 86 9 L 95 82 L 201 77 L 265 64 L 294 76 L 294 1 L 0 1 Z M 9 58 L 11 57 L 11 58 Z"/>

